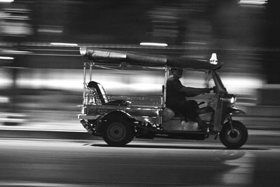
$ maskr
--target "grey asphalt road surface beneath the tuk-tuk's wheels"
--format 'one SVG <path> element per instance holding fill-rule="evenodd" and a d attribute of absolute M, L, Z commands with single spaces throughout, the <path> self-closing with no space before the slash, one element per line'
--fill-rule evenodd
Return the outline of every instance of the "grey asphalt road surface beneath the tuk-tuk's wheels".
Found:
<path fill-rule="evenodd" d="M 0 139 L 0 186 L 279 186 L 280 147 Z"/>

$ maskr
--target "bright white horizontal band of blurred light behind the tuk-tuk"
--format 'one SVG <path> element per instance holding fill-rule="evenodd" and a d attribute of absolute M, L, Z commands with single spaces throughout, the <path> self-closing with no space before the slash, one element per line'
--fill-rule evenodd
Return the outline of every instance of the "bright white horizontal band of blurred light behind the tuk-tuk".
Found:
<path fill-rule="evenodd" d="M 5 73 L 8 73 L 8 71 Z M 205 87 L 204 76 L 204 72 L 188 70 L 182 77 L 181 82 L 187 87 Z M 1 87 L 9 86 L 12 83 L 12 80 L 8 77 L 1 75 Z M 136 70 L 125 72 L 94 70 L 93 80 L 102 84 L 109 94 L 133 96 L 137 96 L 138 93 L 141 95 L 144 93 L 158 95 L 162 91 L 162 84 L 165 83 L 163 72 Z M 242 73 L 238 75 L 236 73 L 223 74 L 222 80 L 229 93 L 242 95 L 244 98 L 256 98 L 258 89 L 262 89 L 265 82 L 262 77 L 257 77 L 257 75 Z M 26 68 L 20 70 L 16 84 L 19 88 L 81 91 L 83 89 L 83 72 L 81 70 Z M 209 87 L 213 86 L 213 84 L 209 85 Z M 242 99 L 237 96 L 237 100 L 240 102 Z M 255 100 L 252 101 L 255 103 Z"/>

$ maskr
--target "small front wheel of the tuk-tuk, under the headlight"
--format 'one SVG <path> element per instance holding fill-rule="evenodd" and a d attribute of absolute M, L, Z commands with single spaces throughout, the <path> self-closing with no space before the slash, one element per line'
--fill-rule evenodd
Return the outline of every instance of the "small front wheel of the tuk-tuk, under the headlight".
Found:
<path fill-rule="evenodd" d="M 232 121 L 232 127 L 227 122 L 223 125 L 220 133 L 220 140 L 230 149 L 238 149 L 243 146 L 248 139 L 248 130 L 240 121 Z"/>

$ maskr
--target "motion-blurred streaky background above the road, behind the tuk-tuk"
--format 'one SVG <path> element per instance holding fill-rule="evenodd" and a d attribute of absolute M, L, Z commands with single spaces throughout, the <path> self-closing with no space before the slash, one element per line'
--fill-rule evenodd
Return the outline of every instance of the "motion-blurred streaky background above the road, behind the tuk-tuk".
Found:
<path fill-rule="evenodd" d="M 80 46 L 197 59 L 216 52 L 237 106 L 278 128 L 279 5 L 277 0 L 0 1 L 0 128 L 83 129 L 76 119 L 83 99 Z M 163 70 L 96 68 L 93 75 L 111 94 L 159 95 L 164 83 Z M 183 84 L 204 87 L 204 73 L 185 71 Z"/>

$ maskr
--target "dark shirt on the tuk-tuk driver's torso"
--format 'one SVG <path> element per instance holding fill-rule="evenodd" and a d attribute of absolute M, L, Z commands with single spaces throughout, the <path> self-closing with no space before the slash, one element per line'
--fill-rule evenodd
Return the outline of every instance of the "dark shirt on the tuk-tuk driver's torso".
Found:
<path fill-rule="evenodd" d="M 167 107 L 174 109 L 178 107 L 179 103 L 186 100 L 185 94 L 180 91 L 183 87 L 181 81 L 174 77 L 169 77 L 167 80 L 167 96 L 166 105 Z"/>

